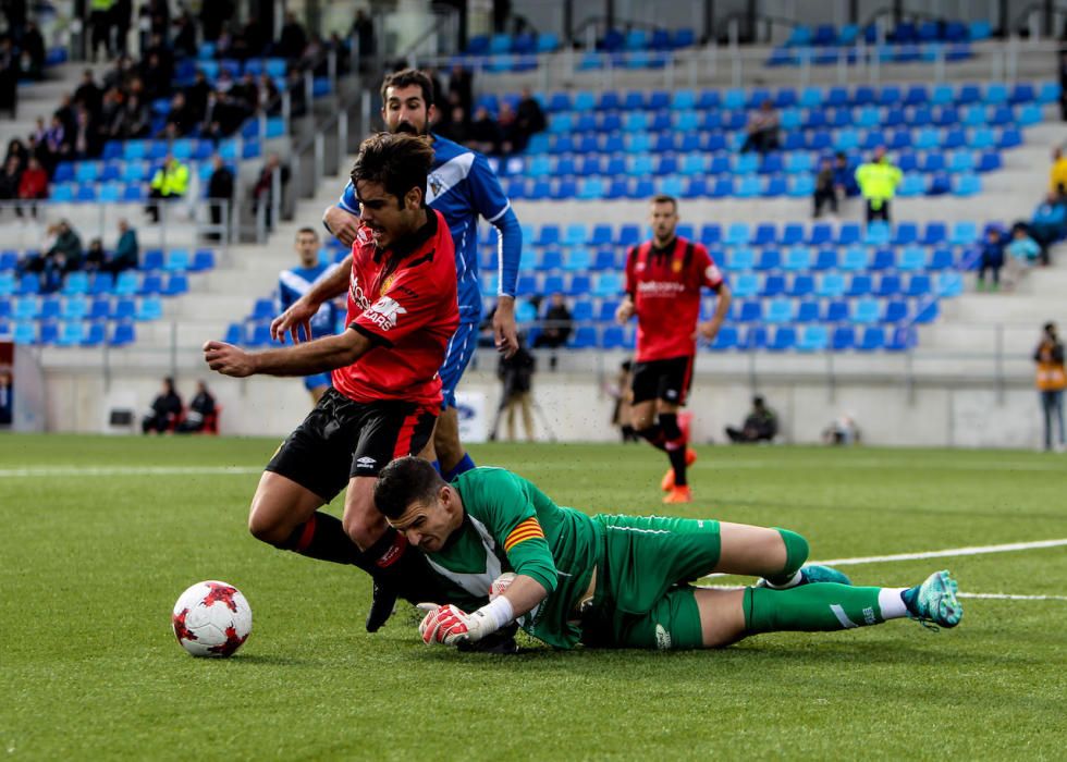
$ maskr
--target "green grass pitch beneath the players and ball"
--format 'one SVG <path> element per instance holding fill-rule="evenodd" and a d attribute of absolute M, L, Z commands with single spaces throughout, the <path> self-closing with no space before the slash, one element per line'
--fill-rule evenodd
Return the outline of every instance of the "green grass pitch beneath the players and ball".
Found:
<path fill-rule="evenodd" d="M 0 437 L 4 759 L 1063 759 L 1067 601 L 968 599 L 962 624 L 778 634 L 718 652 L 518 656 L 422 646 L 369 579 L 245 530 L 275 440 Z M 487 445 L 561 504 L 664 513 L 643 445 Z M 225 470 L 233 467 L 232 470 Z M 150 469 L 156 468 L 152 472 Z M 165 470 L 169 469 L 169 470 Z M 783 526 L 812 558 L 1067 538 L 1067 462 L 1037 453 L 701 448 L 675 513 Z M 335 506 L 334 506 L 335 507 Z M 1067 548 L 848 566 L 906 586 L 1067 594 Z M 170 611 L 201 579 L 252 603 L 229 661 Z M 721 581 L 721 580 L 720 580 Z"/>

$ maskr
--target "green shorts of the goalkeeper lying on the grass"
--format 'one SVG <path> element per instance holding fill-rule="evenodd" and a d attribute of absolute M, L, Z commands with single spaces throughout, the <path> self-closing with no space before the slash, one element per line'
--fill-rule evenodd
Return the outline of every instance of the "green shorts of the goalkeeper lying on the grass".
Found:
<path fill-rule="evenodd" d="M 719 521 L 594 517 L 604 528 L 597 592 L 582 641 L 614 648 L 699 648 L 700 613 L 686 582 L 719 563 Z"/>

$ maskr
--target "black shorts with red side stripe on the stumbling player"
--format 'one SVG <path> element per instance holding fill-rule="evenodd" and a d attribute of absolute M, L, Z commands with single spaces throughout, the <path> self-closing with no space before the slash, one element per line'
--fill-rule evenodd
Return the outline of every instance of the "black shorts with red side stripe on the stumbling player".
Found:
<path fill-rule="evenodd" d="M 377 477 L 390 460 L 422 452 L 437 416 L 437 405 L 353 402 L 331 388 L 266 470 L 292 479 L 329 503 L 353 477 Z"/>

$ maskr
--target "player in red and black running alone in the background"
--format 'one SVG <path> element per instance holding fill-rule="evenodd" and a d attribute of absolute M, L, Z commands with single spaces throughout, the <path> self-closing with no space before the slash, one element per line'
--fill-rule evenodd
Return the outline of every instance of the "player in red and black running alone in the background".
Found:
<path fill-rule="evenodd" d="M 678 427 L 678 408 L 692 383 L 697 334 L 709 342 L 719 333 L 729 309 L 729 287 L 700 244 L 674 234 L 678 202 L 657 196 L 651 208 L 652 239 L 629 250 L 626 296 L 615 319 L 625 323 L 637 315 L 637 357 L 634 365 L 633 426 L 653 447 L 664 451 L 671 469 L 661 487 L 664 503 L 692 500 L 686 467 L 696 460 Z M 698 324 L 700 288 L 719 298 L 711 320 Z"/>

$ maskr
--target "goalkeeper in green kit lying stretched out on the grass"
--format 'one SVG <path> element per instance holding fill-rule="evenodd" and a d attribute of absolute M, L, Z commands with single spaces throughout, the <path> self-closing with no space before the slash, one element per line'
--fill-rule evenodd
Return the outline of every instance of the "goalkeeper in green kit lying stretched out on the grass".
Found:
<path fill-rule="evenodd" d="M 910 617 L 955 627 L 956 582 L 937 572 L 913 588 L 853 587 L 805 566 L 808 543 L 787 529 L 710 519 L 588 516 L 560 507 L 500 468 L 451 484 L 415 457 L 379 475 L 375 503 L 473 611 L 422 604 L 427 643 L 481 640 L 517 623 L 556 648 L 719 648 L 759 632 L 839 630 Z M 760 577 L 739 590 L 695 588 L 711 573 Z M 473 606 L 468 606 L 471 607 Z"/>

